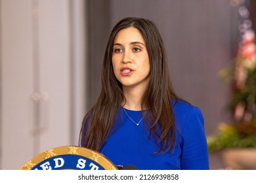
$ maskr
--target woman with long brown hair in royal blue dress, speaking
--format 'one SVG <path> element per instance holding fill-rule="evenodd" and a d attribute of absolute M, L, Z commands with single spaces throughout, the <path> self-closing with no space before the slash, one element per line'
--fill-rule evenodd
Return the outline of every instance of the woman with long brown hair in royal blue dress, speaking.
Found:
<path fill-rule="evenodd" d="M 112 30 L 102 90 L 83 119 L 79 145 L 115 165 L 209 169 L 202 112 L 175 94 L 154 22 L 124 18 Z"/>

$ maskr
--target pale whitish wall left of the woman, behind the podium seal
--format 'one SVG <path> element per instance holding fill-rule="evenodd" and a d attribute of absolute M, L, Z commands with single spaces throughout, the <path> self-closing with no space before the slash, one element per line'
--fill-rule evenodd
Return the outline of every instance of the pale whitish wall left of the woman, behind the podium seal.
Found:
<path fill-rule="evenodd" d="M 0 1 L 0 169 L 77 145 L 85 114 L 83 0 Z"/>

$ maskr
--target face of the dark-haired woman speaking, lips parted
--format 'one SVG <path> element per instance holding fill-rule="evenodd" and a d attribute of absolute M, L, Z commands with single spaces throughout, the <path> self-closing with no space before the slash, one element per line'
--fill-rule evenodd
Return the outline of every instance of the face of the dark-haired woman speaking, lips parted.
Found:
<path fill-rule="evenodd" d="M 140 31 L 128 27 L 119 31 L 114 39 L 112 65 L 114 74 L 125 88 L 144 90 L 148 84 L 150 62 L 145 41 Z"/>

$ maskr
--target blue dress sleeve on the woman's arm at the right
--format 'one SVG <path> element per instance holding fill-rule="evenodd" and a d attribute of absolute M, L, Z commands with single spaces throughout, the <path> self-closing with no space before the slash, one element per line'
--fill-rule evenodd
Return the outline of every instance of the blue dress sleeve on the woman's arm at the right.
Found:
<path fill-rule="evenodd" d="M 181 169 L 209 169 L 203 114 L 193 107 L 182 127 Z"/>

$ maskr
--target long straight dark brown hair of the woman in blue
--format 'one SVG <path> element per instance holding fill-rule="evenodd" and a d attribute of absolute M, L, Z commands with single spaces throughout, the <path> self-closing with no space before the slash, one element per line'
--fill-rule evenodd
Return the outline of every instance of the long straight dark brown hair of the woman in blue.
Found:
<path fill-rule="evenodd" d="M 150 129 L 149 138 L 153 137 L 158 144 L 158 152 L 167 152 L 172 147 L 174 150 L 175 118 L 171 101 L 178 97 L 171 84 L 164 44 L 154 22 L 134 17 L 124 18 L 112 29 L 102 65 L 102 90 L 95 105 L 83 118 L 79 145 L 100 151 L 114 129 L 117 112 L 125 97 L 113 71 L 113 44 L 117 33 L 127 27 L 135 27 L 140 31 L 150 60 L 150 79 L 141 100 L 141 108 L 147 111 L 149 119 L 144 118 Z"/>

